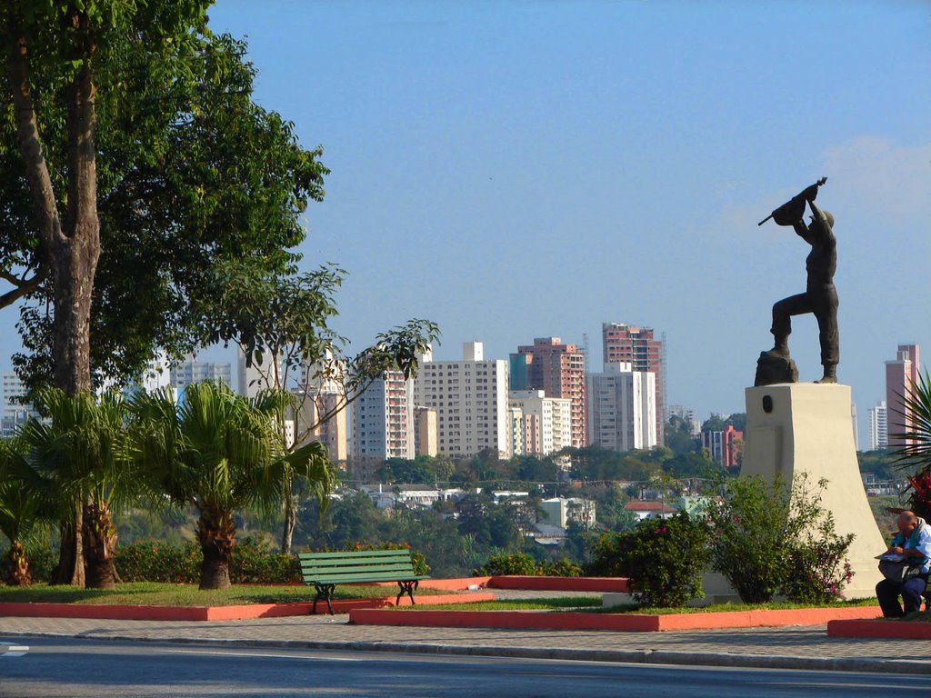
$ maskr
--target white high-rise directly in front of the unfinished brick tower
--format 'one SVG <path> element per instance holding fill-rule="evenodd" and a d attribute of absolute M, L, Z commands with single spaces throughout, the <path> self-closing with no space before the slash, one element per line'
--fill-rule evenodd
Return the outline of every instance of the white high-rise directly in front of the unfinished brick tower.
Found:
<path fill-rule="evenodd" d="M 626 451 L 656 445 L 656 374 L 627 362 L 606 363 L 589 373 L 588 443 Z"/>

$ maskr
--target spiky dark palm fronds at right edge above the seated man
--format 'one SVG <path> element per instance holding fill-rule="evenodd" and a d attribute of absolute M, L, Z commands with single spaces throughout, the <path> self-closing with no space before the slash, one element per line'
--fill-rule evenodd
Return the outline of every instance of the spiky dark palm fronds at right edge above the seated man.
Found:
<path fill-rule="evenodd" d="M 920 517 L 931 520 L 931 378 L 927 369 L 919 373 L 902 398 L 903 409 L 896 410 L 905 424 L 899 436 L 905 446 L 893 451 L 893 463 L 899 470 L 911 471 L 909 506 Z"/>

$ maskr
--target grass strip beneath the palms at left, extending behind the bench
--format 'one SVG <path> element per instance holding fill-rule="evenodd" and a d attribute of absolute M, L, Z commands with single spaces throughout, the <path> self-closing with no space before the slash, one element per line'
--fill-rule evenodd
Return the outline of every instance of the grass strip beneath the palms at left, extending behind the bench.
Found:
<path fill-rule="evenodd" d="M 449 594 L 448 591 L 423 589 L 416 596 Z M 398 589 L 391 586 L 336 587 L 333 598 L 394 597 Z M 256 603 L 292 603 L 313 601 L 317 592 L 313 586 L 236 585 L 230 589 L 201 591 L 195 584 L 161 584 L 130 582 L 117 584 L 115 589 L 79 589 L 74 586 L 0 586 L 0 602 L 74 603 L 113 606 L 245 606 Z"/>

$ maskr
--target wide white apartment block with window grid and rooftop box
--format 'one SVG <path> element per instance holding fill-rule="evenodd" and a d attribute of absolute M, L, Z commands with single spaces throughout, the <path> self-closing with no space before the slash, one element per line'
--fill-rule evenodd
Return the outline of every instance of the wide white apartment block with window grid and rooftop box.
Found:
<path fill-rule="evenodd" d="M 437 410 L 440 453 L 513 454 L 507 381 L 507 361 L 486 359 L 481 342 L 465 342 L 459 361 L 434 361 L 432 351 L 421 357 L 414 391 L 418 405 Z"/>

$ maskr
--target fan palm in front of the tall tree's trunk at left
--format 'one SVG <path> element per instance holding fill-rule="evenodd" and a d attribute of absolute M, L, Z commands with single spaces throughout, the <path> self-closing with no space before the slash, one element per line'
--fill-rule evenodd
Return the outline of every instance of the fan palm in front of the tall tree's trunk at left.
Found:
<path fill-rule="evenodd" d="M 48 423 L 30 420 L 20 429 L 17 469 L 27 490 L 71 521 L 74 502 L 82 503 L 86 585 L 112 588 L 116 527 L 113 512 L 133 501 L 139 488 L 128 458 L 127 409 L 120 396 L 99 399 L 50 389 L 39 403 Z"/>

